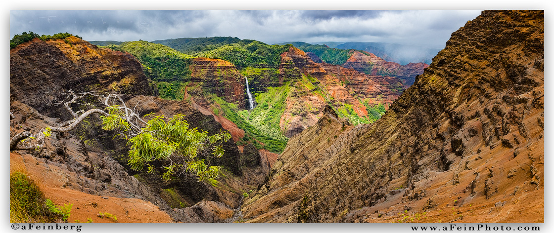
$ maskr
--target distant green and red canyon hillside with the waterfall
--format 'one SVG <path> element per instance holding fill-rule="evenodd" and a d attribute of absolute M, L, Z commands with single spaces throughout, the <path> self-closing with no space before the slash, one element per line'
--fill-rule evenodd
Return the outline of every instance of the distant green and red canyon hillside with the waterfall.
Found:
<path fill-rule="evenodd" d="M 206 48 L 194 50 L 198 43 Z M 281 153 L 291 136 L 317 122 L 327 104 L 353 125 L 371 123 L 408 86 L 403 78 L 383 75 L 386 72 L 364 74 L 322 63 L 290 44 L 238 38 L 182 38 L 165 44 L 199 57 L 144 41 L 109 48 L 135 55 L 162 98 L 188 101 L 213 115 L 241 150 L 253 144 Z M 404 70 L 413 79 L 423 72 L 391 64 L 396 65 L 387 68 L 391 74 Z M 247 109 L 247 80 L 254 96 L 252 110 Z"/>

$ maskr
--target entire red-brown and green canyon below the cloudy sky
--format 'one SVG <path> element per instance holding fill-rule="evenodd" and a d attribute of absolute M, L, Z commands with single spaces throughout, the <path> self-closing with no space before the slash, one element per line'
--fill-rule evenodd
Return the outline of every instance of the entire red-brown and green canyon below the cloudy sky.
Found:
<path fill-rule="evenodd" d="M 72 90 L 232 139 L 212 161 L 216 183 L 163 181 L 130 169 L 126 141 L 93 116 L 43 149 L 11 151 L 11 173 L 78 207 L 69 222 L 112 222 L 99 211 L 119 222 L 544 222 L 543 11 L 484 11 L 430 65 L 271 49 L 278 60 L 254 65 L 178 54 L 186 75 L 162 80 L 145 56 L 76 37 L 17 45 L 10 137 L 73 117 L 49 104 Z M 181 99 L 159 97 L 161 82 Z"/>

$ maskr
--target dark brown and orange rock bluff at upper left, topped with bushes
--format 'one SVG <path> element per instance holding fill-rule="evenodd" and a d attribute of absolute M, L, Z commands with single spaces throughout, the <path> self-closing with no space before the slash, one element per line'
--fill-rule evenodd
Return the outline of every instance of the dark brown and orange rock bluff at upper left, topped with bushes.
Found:
<path fill-rule="evenodd" d="M 54 116 L 47 106 L 63 92 L 115 91 L 152 95 L 142 66 L 134 56 L 100 49 L 76 37 L 42 41 L 38 38 L 9 51 L 10 99 Z M 64 96 L 65 97 L 65 96 Z M 54 114 L 54 115 L 52 115 Z"/>

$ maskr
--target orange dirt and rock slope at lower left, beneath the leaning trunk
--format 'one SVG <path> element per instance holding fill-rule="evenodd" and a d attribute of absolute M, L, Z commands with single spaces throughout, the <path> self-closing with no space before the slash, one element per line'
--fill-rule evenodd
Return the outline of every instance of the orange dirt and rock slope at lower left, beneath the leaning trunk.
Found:
<path fill-rule="evenodd" d="M 19 101 L 12 101 L 10 110 L 15 117 L 10 121 L 11 137 L 57 122 Z M 106 152 L 69 133 L 54 134 L 40 153 L 11 152 L 10 170 L 28 174 L 58 205 L 73 204 L 70 222 L 112 222 L 98 218 L 99 211 L 118 216 L 119 222 L 172 222 L 164 212 L 171 208 L 155 190 L 130 176 Z"/>

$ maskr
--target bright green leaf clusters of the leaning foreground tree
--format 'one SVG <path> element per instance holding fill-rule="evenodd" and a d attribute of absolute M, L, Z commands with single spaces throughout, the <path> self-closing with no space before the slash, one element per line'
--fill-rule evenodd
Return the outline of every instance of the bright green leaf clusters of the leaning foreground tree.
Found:
<path fill-rule="evenodd" d="M 131 131 L 129 122 L 124 119 L 124 112 L 119 106 L 107 108 L 109 116 L 101 116 L 103 130 Z M 129 165 L 133 170 L 148 169 L 148 173 L 155 173 L 153 164 L 162 162 L 164 165 L 162 179 L 170 180 L 175 175 L 192 173 L 199 181 L 217 178 L 220 167 L 209 165 L 210 157 L 222 157 L 223 147 L 220 142 L 230 139 L 228 132 L 220 132 L 208 136 L 207 132 L 199 132 L 197 128 L 188 128 L 184 115 L 177 114 L 169 121 L 164 116 L 148 114 L 150 117 L 146 126 L 139 132 L 127 136 L 121 133 L 131 145 L 129 150 Z M 211 152 L 209 152 L 211 151 Z M 207 160 L 207 162 L 204 162 Z"/>

